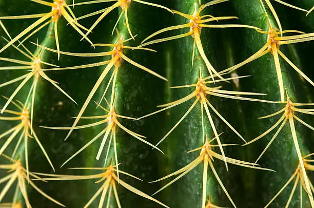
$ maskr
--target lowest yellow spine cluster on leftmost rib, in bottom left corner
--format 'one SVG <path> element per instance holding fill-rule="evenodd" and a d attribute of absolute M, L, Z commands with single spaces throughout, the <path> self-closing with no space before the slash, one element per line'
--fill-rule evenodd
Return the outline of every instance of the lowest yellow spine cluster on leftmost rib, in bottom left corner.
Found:
<path fill-rule="evenodd" d="M 65 207 L 64 204 L 56 201 L 55 199 L 53 199 L 52 197 L 47 195 L 38 186 L 36 186 L 34 184 L 34 182 L 32 181 L 33 179 L 38 179 L 38 180 L 41 180 L 41 181 L 45 181 L 45 180 L 41 179 L 37 174 L 35 174 L 33 172 L 29 172 L 22 165 L 21 160 L 14 160 L 13 158 L 10 158 L 9 156 L 6 156 L 4 154 L 2 154 L 2 156 L 7 158 L 8 160 L 10 160 L 10 163 L 9 164 L 0 164 L 0 169 L 2 169 L 3 171 L 8 172 L 7 176 L 1 178 L 1 182 L 2 183 L 6 183 L 6 184 L 5 184 L 5 186 L 3 187 L 3 189 L 0 192 L 0 202 L 6 196 L 6 194 L 8 193 L 10 188 L 13 186 L 13 184 L 16 183 L 15 192 L 14 192 L 14 196 L 13 196 L 13 202 L 12 202 L 10 207 L 14 207 L 14 208 L 22 207 L 16 201 L 17 200 L 17 195 L 19 193 L 21 193 L 22 196 L 23 196 L 23 199 L 25 201 L 26 206 L 28 208 L 31 208 L 32 206 L 31 206 L 31 204 L 29 202 L 29 198 L 28 198 L 28 194 L 27 194 L 28 193 L 27 184 L 30 184 L 30 186 L 34 190 L 36 190 L 38 193 L 43 195 L 45 198 L 49 199 L 53 203 L 56 203 L 56 204 L 58 204 L 60 206 Z"/>

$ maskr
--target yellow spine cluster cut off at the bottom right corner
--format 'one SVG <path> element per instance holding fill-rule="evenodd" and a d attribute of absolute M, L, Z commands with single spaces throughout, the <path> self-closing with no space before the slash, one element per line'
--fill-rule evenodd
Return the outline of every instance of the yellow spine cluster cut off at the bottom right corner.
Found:
<path fill-rule="evenodd" d="M 289 207 L 291 200 L 292 200 L 292 197 L 295 194 L 295 191 L 296 191 L 298 184 L 300 185 L 300 199 L 302 199 L 302 192 L 304 190 L 305 193 L 308 195 L 311 207 L 314 207 L 314 199 L 313 199 L 314 186 L 312 185 L 306 172 L 303 172 L 302 168 L 301 168 L 301 166 L 304 166 L 306 171 L 314 171 L 314 165 L 310 164 L 314 160 L 307 159 L 307 158 L 311 157 L 312 155 L 314 155 L 314 154 L 312 153 L 312 154 L 308 154 L 308 155 L 302 157 L 302 160 L 301 160 L 301 162 L 299 162 L 296 171 L 292 174 L 292 176 L 288 179 L 288 181 L 282 186 L 282 188 L 277 192 L 277 194 L 264 206 L 264 208 L 269 207 L 272 204 L 272 202 L 274 200 L 276 200 L 276 198 L 286 189 L 286 187 L 293 180 L 295 180 L 295 181 L 293 182 L 292 190 L 291 190 L 291 193 L 289 195 L 289 198 L 287 199 L 287 203 L 285 205 L 285 208 Z M 302 200 L 301 200 L 300 206 L 302 207 Z"/>

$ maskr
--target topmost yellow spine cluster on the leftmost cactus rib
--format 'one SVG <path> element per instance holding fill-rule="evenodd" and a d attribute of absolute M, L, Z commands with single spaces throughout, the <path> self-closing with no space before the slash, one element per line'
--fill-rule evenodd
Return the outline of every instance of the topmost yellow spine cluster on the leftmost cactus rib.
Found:
<path fill-rule="evenodd" d="M 84 39 L 86 39 L 91 45 L 93 44 L 88 37 L 82 32 L 83 30 L 88 30 L 81 24 L 79 24 L 74 19 L 76 18 L 71 8 L 66 4 L 65 0 L 53 0 L 53 3 L 42 1 L 42 0 L 32 0 L 32 2 L 42 4 L 45 6 L 48 6 L 52 8 L 52 10 L 49 13 L 42 13 L 42 14 L 28 14 L 28 15 L 21 15 L 21 16 L 1 16 L 0 20 L 18 20 L 18 19 L 25 19 L 25 18 L 40 18 L 33 24 L 31 24 L 29 27 L 27 27 L 25 30 L 23 30 L 21 33 L 19 33 L 17 36 L 15 36 L 8 44 L 6 44 L 2 49 L 0 49 L 0 53 L 7 49 L 9 46 L 14 44 L 16 41 L 21 39 L 26 34 L 30 33 L 28 37 L 34 35 L 36 32 L 41 30 L 43 27 L 47 26 L 49 23 L 54 24 L 54 36 L 55 36 L 55 42 L 57 51 L 60 51 L 59 47 L 59 40 L 58 40 L 58 32 L 57 32 L 57 23 L 61 16 L 65 18 L 65 20 L 78 32 L 80 33 Z M 49 20 L 49 18 L 51 18 Z M 36 28 L 38 27 L 38 28 Z M 26 39 L 23 40 L 23 42 Z M 60 58 L 60 52 L 58 52 L 58 59 Z"/>

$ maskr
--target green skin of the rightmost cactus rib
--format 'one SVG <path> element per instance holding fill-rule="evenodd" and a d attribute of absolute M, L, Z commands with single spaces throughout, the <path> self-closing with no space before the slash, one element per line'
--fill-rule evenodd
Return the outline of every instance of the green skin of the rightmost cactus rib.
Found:
<path fill-rule="evenodd" d="M 263 10 L 260 7 L 254 7 L 253 5 L 259 5 L 259 1 L 251 1 L 250 3 L 241 4 L 241 1 L 234 1 L 233 5 L 237 12 L 237 15 L 240 17 L 240 20 L 243 24 L 253 24 L 257 25 L 258 27 L 267 27 L 267 22 L 263 22 Z M 249 6 L 251 8 L 259 8 L 250 10 L 250 13 L 247 13 L 244 11 L 244 5 Z M 245 16 L 246 15 L 246 16 Z M 254 24 L 256 23 L 256 24 Z M 252 54 L 252 51 L 257 51 L 262 44 L 265 43 L 266 37 L 265 35 L 254 36 L 254 39 L 252 39 L 251 34 L 241 34 L 242 36 L 242 44 L 245 46 L 250 46 L 248 50 L 244 50 L 242 53 L 243 56 L 248 56 L 249 54 Z M 262 39 L 261 39 L 262 38 Z M 289 52 L 289 48 L 282 47 L 284 53 Z M 248 52 L 247 52 L 248 51 Z M 290 56 L 289 56 L 290 58 Z M 251 80 L 248 80 L 249 82 L 245 82 L 242 86 L 245 87 L 244 90 L 248 89 L 256 89 L 257 91 L 263 90 L 265 93 L 267 93 L 267 98 L 269 100 L 276 100 L 276 98 L 279 97 L 278 90 L 273 90 L 274 88 L 278 88 L 278 83 L 274 82 L 272 79 L 272 75 L 276 76 L 276 68 L 273 64 L 273 58 L 271 54 L 267 54 L 266 57 L 260 58 L 259 61 L 251 62 L 249 65 L 243 67 L 243 71 L 239 70 L 239 75 L 242 75 L 242 73 L 252 73 L 254 76 Z M 293 58 L 290 58 L 291 61 L 296 63 L 296 59 L 293 60 Z M 263 64 L 261 64 L 263 63 Z M 297 100 L 294 102 L 309 102 L 310 100 L 304 99 L 304 88 L 310 88 L 310 85 L 308 83 L 302 82 L 298 75 L 295 75 L 295 71 L 292 70 L 290 66 L 285 64 L 285 62 L 282 65 L 282 71 L 283 71 L 283 77 L 285 86 L 287 87 L 288 94 L 291 97 L 292 100 Z M 299 66 L 299 65 L 298 65 Z M 305 68 L 302 67 L 302 70 Z M 273 71 L 273 73 L 271 72 Z M 285 71 L 285 72 L 284 72 Z M 263 79 L 261 77 L 263 76 Z M 299 78 L 299 79 L 298 79 Z M 272 81 L 270 81 L 272 80 Z M 243 80 L 245 81 L 245 80 Z M 305 85 L 305 86 L 304 86 Z M 298 90 L 299 89 L 299 90 Z M 303 89 L 303 90 L 301 90 Z M 312 96 L 312 93 L 310 93 Z M 311 97 L 310 96 L 310 97 Z M 278 108 L 277 108 L 278 107 Z M 271 124 L 276 122 L 279 118 L 269 118 L 269 119 L 263 119 L 263 120 L 257 120 L 256 115 L 268 115 L 272 112 L 275 112 L 279 110 L 281 106 L 278 105 L 269 105 L 269 104 L 257 104 L 257 103 L 249 103 L 249 106 L 246 106 L 245 109 L 249 109 L 247 112 L 251 112 L 249 114 L 246 114 L 248 123 L 251 123 L 250 127 L 250 137 L 256 137 L 260 134 L 262 134 L 266 129 L 268 129 Z M 259 117 L 259 116 L 258 116 Z M 298 141 L 300 144 L 300 148 L 303 155 L 306 155 L 308 153 L 308 148 L 304 146 L 306 143 L 307 138 L 305 135 L 301 132 L 303 132 L 303 125 L 296 125 L 297 132 L 298 132 Z M 306 128 L 306 127 L 305 127 Z M 300 130 L 299 130 L 300 129 Z M 254 133 L 254 134 L 251 134 Z M 271 134 L 271 136 L 274 134 L 274 132 Z M 251 147 L 247 147 L 250 151 L 250 155 L 256 155 L 257 157 L 262 149 L 266 146 L 268 141 L 271 139 L 271 136 L 269 135 L 269 139 L 261 139 L 259 144 L 252 144 Z M 246 136 L 248 137 L 248 136 Z M 262 145 L 261 145 L 262 144 Z M 279 150 L 280 149 L 280 150 Z M 267 154 L 268 152 L 268 154 Z M 260 164 L 262 166 L 267 167 L 274 167 L 274 169 L 281 174 L 271 174 L 269 172 L 267 173 L 258 173 L 256 176 L 256 182 L 255 184 L 258 184 L 259 187 L 262 187 L 259 192 L 255 194 L 255 196 L 258 196 L 257 200 L 264 201 L 265 205 L 268 203 L 269 199 L 272 198 L 282 187 L 282 185 L 290 178 L 291 174 L 295 172 L 295 169 L 298 165 L 298 159 L 295 152 L 295 148 L 293 147 L 293 142 L 291 138 L 291 130 L 288 124 L 282 129 L 281 133 L 277 136 L 277 139 L 274 140 L 272 145 L 269 147 L 265 155 L 262 157 L 262 160 L 260 161 Z M 276 167 L 276 168 L 275 168 Z M 276 176 L 274 176 L 276 175 Z M 279 177 L 280 176 L 280 177 Z M 267 181 L 267 182 L 266 182 Z M 255 188 L 254 188 L 255 189 Z M 270 207 L 282 207 L 286 204 L 286 201 L 289 197 L 291 191 L 290 189 L 287 189 L 284 193 L 282 193 L 279 198 L 275 201 L 276 203 L 273 203 Z M 252 190 L 251 190 L 252 192 Z M 250 193 L 250 191 L 248 191 Z M 300 191 L 296 191 L 296 193 L 300 193 Z M 289 207 L 299 207 L 299 203 L 297 202 L 299 194 L 295 194 L 295 198 L 293 198 L 293 203 L 290 204 Z M 304 196 L 304 195 L 303 195 Z M 306 204 L 309 206 L 309 202 L 307 199 L 303 199 L 303 205 L 306 207 Z M 264 205 L 264 204 L 263 204 Z"/>

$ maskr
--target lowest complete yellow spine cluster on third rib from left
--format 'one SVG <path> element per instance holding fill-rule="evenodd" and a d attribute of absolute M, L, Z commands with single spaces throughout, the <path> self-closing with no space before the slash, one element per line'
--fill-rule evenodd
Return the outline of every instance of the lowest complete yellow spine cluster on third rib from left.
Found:
<path fill-rule="evenodd" d="M 245 161 L 241 161 L 241 160 L 237 160 L 237 159 L 233 159 L 233 158 L 224 157 L 224 156 L 222 156 L 222 155 L 220 155 L 218 153 L 215 153 L 214 150 L 212 150 L 212 148 L 220 146 L 219 144 L 212 144 L 212 142 L 214 140 L 216 140 L 216 139 L 218 139 L 218 137 L 215 137 L 215 138 L 213 138 L 211 140 L 208 140 L 207 139 L 207 135 L 206 135 L 206 141 L 205 141 L 203 146 L 201 146 L 199 148 L 196 148 L 196 149 L 193 149 L 193 150 L 188 152 L 188 153 L 190 153 L 190 152 L 194 152 L 194 151 L 200 150 L 201 153 L 200 153 L 199 157 L 197 157 L 191 163 L 189 163 L 185 167 L 179 169 L 178 171 L 173 172 L 172 174 L 169 174 L 169 175 L 167 175 L 167 176 L 165 176 L 165 177 L 163 177 L 161 179 L 152 181 L 152 182 L 158 182 L 158 181 L 170 178 L 172 176 L 176 176 L 173 180 L 171 180 L 169 183 L 167 183 L 165 186 L 163 186 L 160 190 L 158 190 L 154 194 L 159 193 L 160 191 L 164 190 L 164 188 L 168 187 L 169 185 L 171 185 L 175 181 L 179 180 L 180 178 L 182 178 L 183 176 L 188 174 L 190 171 L 192 171 L 192 169 L 194 169 L 196 166 L 198 166 L 199 164 L 203 163 L 204 164 L 204 168 L 203 168 L 202 208 L 219 207 L 219 206 L 209 206 L 208 205 L 209 203 L 206 203 L 206 198 L 207 198 L 206 183 L 207 183 L 208 165 L 209 165 L 212 173 L 214 174 L 215 178 L 217 179 L 219 185 L 221 186 L 222 190 L 224 191 L 224 193 L 227 195 L 228 199 L 232 203 L 233 207 L 237 207 L 234 204 L 233 200 L 231 199 L 230 195 L 228 194 L 225 186 L 223 185 L 223 182 L 221 181 L 220 177 L 218 176 L 217 171 L 215 170 L 215 167 L 213 165 L 214 159 L 218 159 L 218 160 L 226 161 L 226 162 L 234 164 L 234 165 L 239 165 L 239 166 L 244 166 L 244 167 L 249 167 L 249 168 L 254 168 L 254 169 L 261 169 L 261 170 L 265 170 L 265 171 L 272 171 L 272 170 L 271 169 L 267 169 L 267 168 L 263 168 L 263 167 L 259 167 L 259 165 L 256 165 L 254 163 L 249 163 L 249 162 L 245 162 Z M 221 146 L 230 146 L 230 145 L 237 145 L 237 144 L 222 144 Z"/>

